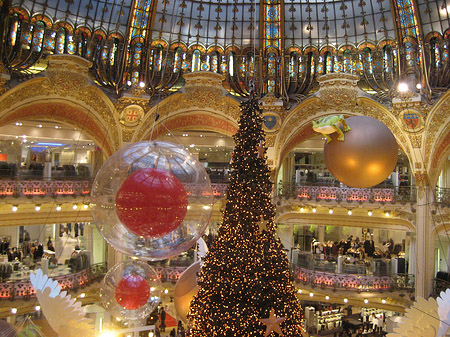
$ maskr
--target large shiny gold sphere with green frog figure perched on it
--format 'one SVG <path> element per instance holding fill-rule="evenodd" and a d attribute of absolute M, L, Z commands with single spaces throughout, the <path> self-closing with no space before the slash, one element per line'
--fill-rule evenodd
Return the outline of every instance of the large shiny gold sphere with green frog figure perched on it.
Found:
<path fill-rule="evenodd" d="M 383 182 L 395 168 L 398 145 L 392 132 L 382 122 L 367 116 L 346 119 L 350 130 L 344 141 L 338 133 L 325 143 L 324 159 L 331 174 L 341 183 L 358 188 Z"/>

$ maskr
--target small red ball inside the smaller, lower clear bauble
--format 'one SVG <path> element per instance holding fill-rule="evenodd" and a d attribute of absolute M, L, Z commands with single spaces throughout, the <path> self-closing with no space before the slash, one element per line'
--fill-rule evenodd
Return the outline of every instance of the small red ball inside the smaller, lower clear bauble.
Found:
<path fill-rule="evenodd" d="M 116 288 L 116 300 L 127 310 L 144 306 L 150 297 L 150 287 L 145 278 L 130 275 L 120 280 Z"/>

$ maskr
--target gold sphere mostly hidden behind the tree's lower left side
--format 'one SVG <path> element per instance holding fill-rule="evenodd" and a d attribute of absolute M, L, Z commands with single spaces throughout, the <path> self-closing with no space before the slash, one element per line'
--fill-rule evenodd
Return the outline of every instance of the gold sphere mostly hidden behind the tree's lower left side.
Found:
<path fill-rule="evenodd" d="M 198 292 L 197 273 L 200 271 L 201 261 L 191 264 L 186 269 L 175 285 L 175 294 L 173 297 L 175 310 L 178 318 L 187 323 L 187 314 L 189 306 L 194 296 Z"/>

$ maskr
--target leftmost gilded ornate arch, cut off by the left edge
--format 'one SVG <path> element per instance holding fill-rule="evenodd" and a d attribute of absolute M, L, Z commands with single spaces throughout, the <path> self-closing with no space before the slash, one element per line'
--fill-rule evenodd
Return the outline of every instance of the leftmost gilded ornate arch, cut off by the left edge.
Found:
<path fill-rule="evenodd" d="M 85 130 L 105 155 L 111 155 L 121 143 L 119 123 L 109 98 L 86 85 L 82 69 L 88 62 L 78 56 L 52 55 L 49 63 L 49 77 L 31 79 L 0 97 L 0 125 L 36 118 L 68 123 Z"/>

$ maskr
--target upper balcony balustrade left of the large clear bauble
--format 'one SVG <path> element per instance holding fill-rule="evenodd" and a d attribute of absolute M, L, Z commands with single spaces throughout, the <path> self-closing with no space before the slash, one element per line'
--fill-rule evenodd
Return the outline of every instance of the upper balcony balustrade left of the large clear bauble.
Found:
<path fill-rule="evenodd" d="M 0 180 L 0 196 L 88 195 L 90 180 Z"/>

